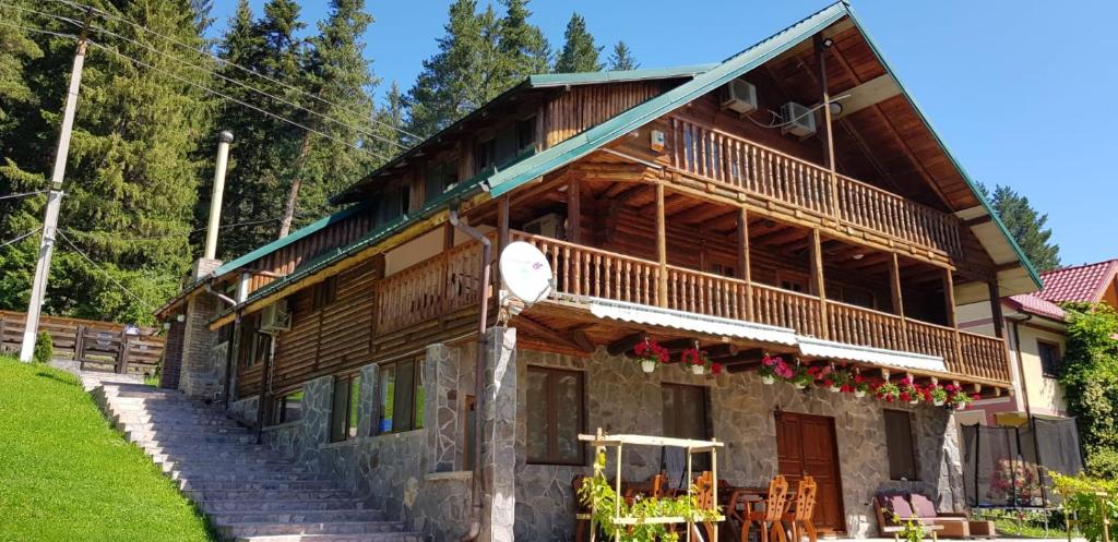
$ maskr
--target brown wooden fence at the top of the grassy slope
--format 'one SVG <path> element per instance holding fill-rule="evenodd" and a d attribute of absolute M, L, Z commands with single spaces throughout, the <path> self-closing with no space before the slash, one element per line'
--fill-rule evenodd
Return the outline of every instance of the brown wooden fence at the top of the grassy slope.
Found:
<path fill-rule="evenodd" d="M 18 353 L 27 315 L 0 311 L 0 353 Z M 55 359 L 80 363 L 83 370 L 152 374 L 163 355 L 164 337 L 152 327 L 44 315 L 39 331 L 50 333 Z"/>

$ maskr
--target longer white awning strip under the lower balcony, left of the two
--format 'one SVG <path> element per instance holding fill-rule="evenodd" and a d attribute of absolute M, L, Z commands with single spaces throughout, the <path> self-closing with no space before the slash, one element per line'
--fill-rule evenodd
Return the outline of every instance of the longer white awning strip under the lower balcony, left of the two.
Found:
<path fill-rule="evenodd" d="M 584 297 L 590 313 L 599 318 L 620 320 L 635 324 L 674 327 L 708 335 L 735 336 L 777 344 L 796 344 L 796 332 L 787 327 L 721 318 L 672 308 L 638 305 L 623 301 Z"/>

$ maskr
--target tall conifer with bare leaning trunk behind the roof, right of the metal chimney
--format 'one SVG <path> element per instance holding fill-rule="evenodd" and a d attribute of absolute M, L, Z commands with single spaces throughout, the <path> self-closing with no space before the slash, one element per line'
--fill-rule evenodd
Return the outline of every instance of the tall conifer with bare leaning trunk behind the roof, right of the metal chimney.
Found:
<path fill-rule="evenodd" d="M 372 131 L 373 103 L 368 92 L 379 80 L 362 56 L 361 35 L 372 22 L 364 11 L 364 0 L 332 0 L 329 18 L 319 25 L 319 36 L 311 39 L 304 72 L 311 74 L 306 89 L 319 99 L 305 101 L 302 124 L 334 140 L 361 144 L 380 156 L 394 154 L 391 137 Z M 337 105 L 335 105 L 337 104 Z M 339 122 L 326 120 L 330 117 Z M 353 127 L 349 127 L 353 126 Z M 372 134 L 372 135 L 368 135 Z M 326 200 L 382 161 L 353 146 L 331 139 L 303 134 L 290 168 L 287 200 L 280 225 L 280 237 L 287 235 L 296 209 L 309 220 L 329 211 Z"/>

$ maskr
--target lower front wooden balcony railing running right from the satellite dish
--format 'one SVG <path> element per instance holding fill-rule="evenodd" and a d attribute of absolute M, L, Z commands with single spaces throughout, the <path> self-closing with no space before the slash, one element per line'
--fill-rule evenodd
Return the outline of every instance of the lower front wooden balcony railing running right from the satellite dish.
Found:
<path fill-rule="evenodd" d="M 547 237 L 512 235 L 544 254 L 561 294 L 663 306 L 789 327 L 847 344 L 937 355 L 953 373 L 1010 380 L 1001 339 L 675 266 L 665 266 L 667 295 L 661 302 L 659 263 Z"/>

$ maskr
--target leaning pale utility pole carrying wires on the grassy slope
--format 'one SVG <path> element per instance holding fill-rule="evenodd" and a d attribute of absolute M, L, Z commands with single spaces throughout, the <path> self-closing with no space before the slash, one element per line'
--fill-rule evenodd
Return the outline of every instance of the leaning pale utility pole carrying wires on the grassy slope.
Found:
<path fill-rule="evenodd" d="M 82 67 L 85 65 L 85 49 L 89 35 L 89 19 L 93 10 L 85 13 L 85 25 L 77 39 L 74 67 L 70 69 L 69 89 L 66 92 L 66 110 L 63 112 L 63 127 L 58 134 L 58 150 L 55 169 L 50 173 L 50 191 L 47 196 L 47 216 L 42 219 L 42 236 L 39 238 L 39 262 L 35 266 L 35 282 L 31 284 L 31 301 L 27 305 L 27 323 L 23 326 L 23 344 L 19 350 L 20 361 L 31 361 L 35 340 L 39 334 L 39 313 L 42 297 L 47 292 L 47 276 L 50 274 L 50 256 L 55 248 L 55 232 L 58 226 L 58 210 L 63 202 L 63 179 L 66 177 L 66 158 L 69 154 L 70 133 L 74 131 L 74 113 L 77 110 L 77 92 L 82 88 Z"/>

